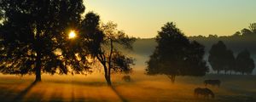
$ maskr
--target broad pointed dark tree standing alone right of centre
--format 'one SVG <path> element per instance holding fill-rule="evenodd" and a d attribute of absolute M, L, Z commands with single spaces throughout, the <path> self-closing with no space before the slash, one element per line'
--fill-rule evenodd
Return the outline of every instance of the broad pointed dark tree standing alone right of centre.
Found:
<path fill-rule="evenodd" d="M 168 22 L 158 31 L 156 42 L 147 61 L 148 75 L 163 74 L 174 82 L 177 76 L 204 76 L 208 71 L 203 60 L 204 46 L 190 42 L 174 23 Z"/>

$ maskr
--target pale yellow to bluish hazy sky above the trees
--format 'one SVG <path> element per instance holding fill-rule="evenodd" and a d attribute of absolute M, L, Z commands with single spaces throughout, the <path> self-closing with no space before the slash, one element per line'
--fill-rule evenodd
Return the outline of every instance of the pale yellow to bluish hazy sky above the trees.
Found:
<path fill-rule="evenodd" d="M 86 12 L 133 37 L 155 37 L 168 21 L 187 36 L 231 35 L 256 22 L 256 0 L 84 0 Z"/>

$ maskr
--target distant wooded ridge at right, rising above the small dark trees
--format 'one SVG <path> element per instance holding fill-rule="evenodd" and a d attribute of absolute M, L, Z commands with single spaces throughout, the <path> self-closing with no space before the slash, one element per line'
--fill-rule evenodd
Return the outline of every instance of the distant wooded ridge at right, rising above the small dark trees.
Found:
<path fill-rule="evenodd" d="M 241 52 L 241 50 L 247 48 L 252 54 L 256 52 L 256 23 L 251 24 L 248 28 L 244 28 L 241 31 L 236 31 L 231 36 L 218 37 L 217 35 L 209 35 L 208 37 L 197 36 L 189 37 L 191 40 L 201 42 L 206 46 L 208 52 L 212 44 L 223 41 L 228 48 L 234 51 L 235 54 Z"/>

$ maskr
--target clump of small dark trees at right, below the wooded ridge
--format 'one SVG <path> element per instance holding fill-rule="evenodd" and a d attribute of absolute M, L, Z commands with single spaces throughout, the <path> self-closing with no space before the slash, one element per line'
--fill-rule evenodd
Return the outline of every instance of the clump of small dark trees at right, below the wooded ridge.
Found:
<path fill-rule="evenodd" d="M 228 71 L 239 72 L 241 74 L 251 74 L 255 67 L 254 60 L 247 49 L 241 51 L 235 57 L 233 51 L 227 49 L 224 42 L 219 41 L 212 45 L 209 51 L 208 61 L 212 66 L 213 71 L 224 71 L 227 74 Z"/>

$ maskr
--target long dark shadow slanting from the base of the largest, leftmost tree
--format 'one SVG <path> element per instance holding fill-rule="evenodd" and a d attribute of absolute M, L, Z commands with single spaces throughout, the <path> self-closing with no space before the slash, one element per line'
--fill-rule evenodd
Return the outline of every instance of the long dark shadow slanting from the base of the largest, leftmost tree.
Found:
<path fill-rule="evenodd" d="M 14 99 L 13 102 L 22 101 L 24 96 L 37 84 L 38 82 L 32 82 L 27 88 L 20 92 Z"/>

